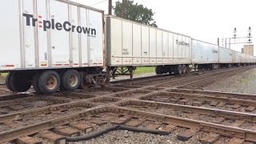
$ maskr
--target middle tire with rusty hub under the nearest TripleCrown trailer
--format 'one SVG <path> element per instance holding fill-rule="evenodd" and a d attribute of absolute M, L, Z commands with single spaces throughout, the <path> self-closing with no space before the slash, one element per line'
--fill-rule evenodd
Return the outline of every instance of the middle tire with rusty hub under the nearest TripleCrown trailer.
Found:
<path fill-rule="evenodd" d="M 42 72 L 38 77 L 38 89 L 42 94 L 53 94 L 60 86 L 60 78 L 54 70 Z"/>

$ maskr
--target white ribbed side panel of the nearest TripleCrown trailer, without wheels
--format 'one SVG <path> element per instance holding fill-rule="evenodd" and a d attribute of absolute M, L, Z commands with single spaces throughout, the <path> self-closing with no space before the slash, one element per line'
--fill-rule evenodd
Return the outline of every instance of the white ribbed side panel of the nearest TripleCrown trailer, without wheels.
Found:
<path fill-rule="evenodd" d="M 101 10 L 61 0 L 4 1 L 0 70 L 103 66 Z"/>

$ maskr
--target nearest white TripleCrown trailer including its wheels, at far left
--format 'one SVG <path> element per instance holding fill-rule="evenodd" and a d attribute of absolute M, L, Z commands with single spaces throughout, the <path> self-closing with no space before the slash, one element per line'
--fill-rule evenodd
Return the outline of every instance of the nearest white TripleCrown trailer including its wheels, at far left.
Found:
<path fill-rule="evenodd" d="M 66 0 L 2 0 L 0 72 L 6 85 L 51 94 L 92 82 L 104 66 L 103 12 Z M 80 73 L 80 74 L 79 74 Z M 98 80 L 98 79 L 97 79 Z"/>

